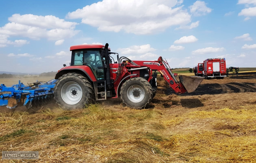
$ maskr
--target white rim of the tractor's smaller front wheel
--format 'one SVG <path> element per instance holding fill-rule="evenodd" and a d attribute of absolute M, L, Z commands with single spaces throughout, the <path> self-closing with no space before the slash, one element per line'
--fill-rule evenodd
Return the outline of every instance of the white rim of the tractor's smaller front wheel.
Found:
<path fill-rule="evenodd" d="M 127 97 L 130 101 L 139 103 L 144 99 L 145 91 L 139 85 L 133 85 L 128 89 Z"/>

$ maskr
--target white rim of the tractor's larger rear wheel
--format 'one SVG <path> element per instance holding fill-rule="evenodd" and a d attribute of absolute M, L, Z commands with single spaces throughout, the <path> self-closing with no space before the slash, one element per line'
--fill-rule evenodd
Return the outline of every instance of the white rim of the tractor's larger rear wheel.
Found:
<path fill-rule="evenodd" d="M 69 105 L 77 104 L 79 101 L 81 101 L 82 97 L 82 88 L 76 82 L 67 82 L 61 88 L 61 98 Z"/>

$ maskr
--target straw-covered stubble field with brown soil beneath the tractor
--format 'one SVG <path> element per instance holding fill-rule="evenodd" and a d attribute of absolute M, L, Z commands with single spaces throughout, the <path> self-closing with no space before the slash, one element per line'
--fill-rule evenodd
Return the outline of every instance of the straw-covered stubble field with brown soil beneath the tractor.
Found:
<path fill-rule="evenodd" d="M 74 111 L 1 107 L 0 149 L 39 151 L 24 162 L 256 162 L 255 73 L 203 80 L 189 94 L 160 77 L 158 87 L 143 110 L 120 100 Z"/>

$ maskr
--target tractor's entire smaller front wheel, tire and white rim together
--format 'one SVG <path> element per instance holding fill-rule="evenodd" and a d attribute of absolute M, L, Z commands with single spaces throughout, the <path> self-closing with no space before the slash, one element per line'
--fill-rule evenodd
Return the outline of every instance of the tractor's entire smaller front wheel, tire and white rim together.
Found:
<path fill-rule="evenodd" d="M 128 107 L 143 109 L 151 102 L 153 90 L 147 80 L 134 77 L 124 82 L 120 90 L 120 96 L 123 103 Z"/>

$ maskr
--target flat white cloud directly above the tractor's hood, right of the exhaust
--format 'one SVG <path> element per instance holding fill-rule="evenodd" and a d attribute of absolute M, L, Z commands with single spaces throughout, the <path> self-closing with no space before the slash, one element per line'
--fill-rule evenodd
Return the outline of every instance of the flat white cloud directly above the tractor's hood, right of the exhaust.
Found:
<path fill-rule="evenodd" d="M 150 51 L 156 51 L 156 49 L 150 47 L 150 44 L 141 45 L 141 46 L 135 45 L 129 48 L 117 49 L 117 52 L 120 52 L 121 54 L 131 54 L 131 53 L 142 54 L 142 53 L 148 53 Z"/>

